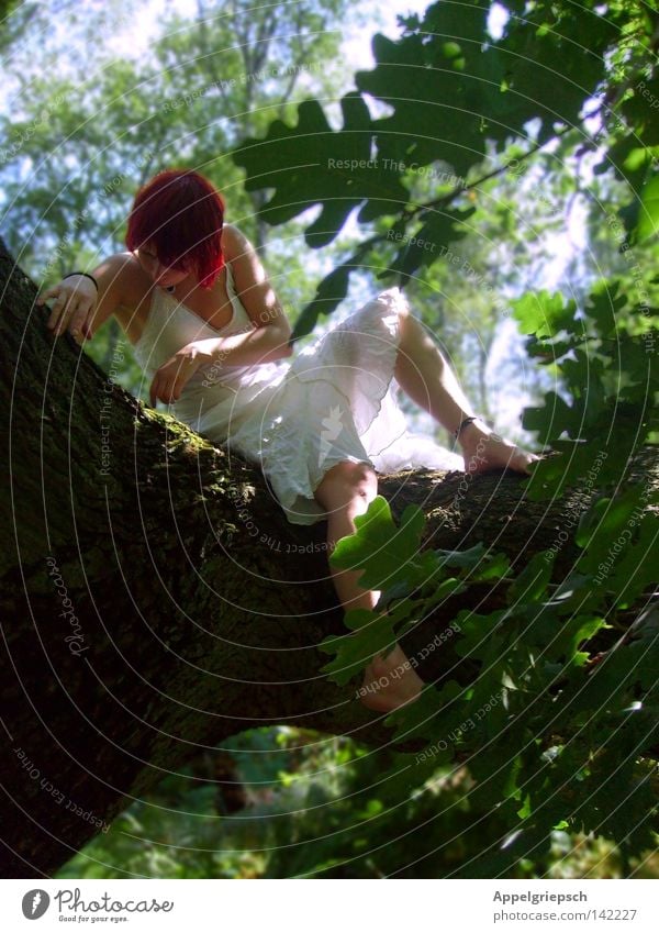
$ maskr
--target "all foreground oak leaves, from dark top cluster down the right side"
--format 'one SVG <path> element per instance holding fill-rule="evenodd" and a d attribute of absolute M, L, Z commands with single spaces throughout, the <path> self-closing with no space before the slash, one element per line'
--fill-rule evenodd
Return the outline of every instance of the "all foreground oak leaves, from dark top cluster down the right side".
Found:
<path fill-rule="evenodd" d="M 530 289 L 512 301 L 530 357 L 555 379 L 524 416 L 550 452 L 527 495 L 550 498 L 574 486 L 592 495 L 576 530 L 574 567 L 562 579 L 552 574 L 562 540 L 514 578 L 500 555 L 420 553 L 422 513 L 409 509 L 396 527 L 376 500 L 334 562 L 364 570 L 364 585 L 382 590 L 380 603 L 348 612 L 349 634 L 324 648 L 333 655 L 326 673 L 347 684 L 447 596 L 490 575 L 505 608 L 444 620 L 440 633 L 449 655 L 480 665 L 477 681 L 428 685 L 390 718 L 398 740 L 425 743 L 415 781 L 424 768 L 429 777 L 438 765 L 462 764 L 473 780 L 470 802 L 502 821 L 498 844 L 461 866 L 468 876 L 512 873 L 520 858 L 543 864 L 552 833 L 563 830 L 613 841 L 628 870 L 657 831 L 659 526 L 651 479 L 639 481 L 634 457 L 659 429 L 657 279 L 646 271 L 657 253 L 658 19 L 626 2 L 503 5 L 509 19 L 496 38 L 488 32 L 490 4 L 478 0 L 459 12 L 431 5 L 406 20 L 398 41 L 377 35 L 376 68 L 356 75 L 340 129 L 305 101 L 294 126 L 272 123 L 234 159 L 247 187 L 270 189 L 269 223 L 319 209 L 310 246 L 331 243 L 354 214 L 376 229 L 320 284 L 298 334 L 336 308 L 357 268 L 375 264 L 404 285 L 439 257 L 465 263 L 478 195 L 496 190 L 513 166 L 568 162 L 578 185 L 590 173 L 604 196 L 593 206 L 591 235 L 615 241 L 622 265 L 583 277 L 568 300 Z M 388 112 L 373 115 L 367 96 Z M 421 200 L 414 181 L 424 166 L 437 184 Z M 403 769 L 396 762 L 384 787 L 394 788 Z"/>

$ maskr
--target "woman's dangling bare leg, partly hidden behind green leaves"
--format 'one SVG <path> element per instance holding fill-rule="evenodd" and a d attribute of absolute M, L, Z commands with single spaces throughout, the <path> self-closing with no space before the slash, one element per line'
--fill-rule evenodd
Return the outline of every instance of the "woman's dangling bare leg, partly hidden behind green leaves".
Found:
<path fill-rule="evenodd" d="M 378 492 L 378 480 L 366 464 L 345 462 L 327 470 L 315 498 L 327 512 L 327 551 L 342 537 L 355 533 L 355 517 L 364 514 Z M 359 586 L 361 571 L 331 567 L 334 587 L 344 609 L 373 609 L 380 593 Z M 386 657 L 367 666 L 361 702 L 370 709 L 390 712 L 415 700 L 423 681 L 413 670 L 402 648 L 395 645 Z"/>

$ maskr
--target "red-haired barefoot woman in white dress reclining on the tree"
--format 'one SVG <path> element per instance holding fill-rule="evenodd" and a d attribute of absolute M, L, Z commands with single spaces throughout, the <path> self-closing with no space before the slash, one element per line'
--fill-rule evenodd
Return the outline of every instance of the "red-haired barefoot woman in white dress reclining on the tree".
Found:
<path fill-rule="evenodd" d="M 465 469 L 526 470 L 534 457 L 476 415 L 438 347 L 398 288 L 382 291 L 292 363 L 290 326 L 249 242 L 224 223 L 224 202 L 196 171 L 163 171 L 137 193 L 127 253 L 92 276 L 45 291 L 47 326 L 81 343 L 114 314 L 150 378 L 150 401 L 230 453 L 259 463 L 289 521 L 327 521 L 327 546 L 355 531 L 379 471 L 461 468 L 457 455 L 410 435 L 393 378 L 454 432 Z M 356 571 L 331 568 L 345 609 L 379 593 Z M 395 674 L 390 677 L 390 674 Z M 422 681 L 399 646 L 367 667 L 362 701 L 389 711 Z"/>

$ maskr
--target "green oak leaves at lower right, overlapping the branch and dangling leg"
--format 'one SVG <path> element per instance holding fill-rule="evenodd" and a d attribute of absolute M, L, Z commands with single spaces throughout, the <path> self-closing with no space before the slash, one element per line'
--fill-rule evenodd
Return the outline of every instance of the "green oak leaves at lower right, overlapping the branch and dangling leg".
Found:
<path fill-rule="evenodd" d="M 389 718 L 396 741 L 424 743 L 417 776 L 463 764 L 470 800 L 502 821 L 499 844 L 471 858 L 469 877 L 510 873 L 522 857 L 546 859 L 558 830 L 610 840 L 627 866 L 657 841 L 659 490 L 651 477 L 638 482 L 633 465 L 659 427 L 659 332 L 629 335 L 626 299 L 617 284 L 606 286 L 582 309 L 558 295 L 516 302 L 530 352 L 552 363 L 566 392 L 526 412 L 526 426 L 554 452 L 536 465 L 527 496 L 560 496 L 589 476 L 587 488 L 597 490 L 576 531 L 581 556 L 565 577 L 552 573 L 560 540 L 515 577 L 482 546 L 420 552 L 423 512 L 410 507 L 396 527 L 382 499 L 333 557 L 382 590 L 376 610 L 346 614 L 351 634 L 323 645 L 338 684 L 448 596 L 482 580 L 505 586 L 504 608 L 443 622 L 450 648 L 442 649 L 477 662 L 477 680 L 447 676 Z M 392 776 L 403 767 L 396 763 Z"/>

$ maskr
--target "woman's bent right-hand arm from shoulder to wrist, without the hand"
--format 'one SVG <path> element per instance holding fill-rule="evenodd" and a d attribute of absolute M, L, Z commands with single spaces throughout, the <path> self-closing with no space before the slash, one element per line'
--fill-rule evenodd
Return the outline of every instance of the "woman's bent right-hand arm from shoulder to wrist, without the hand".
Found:
<path fill-rule="evenodd" d="M 196 341 L 200 362 L 249 366 L 290 356 L 291 327 L 254 246 L 239 230 L 226 224 L 222 231 L 222 248 L 231 263 L 236 292 L 249 316 L 252 330 Z"/>

